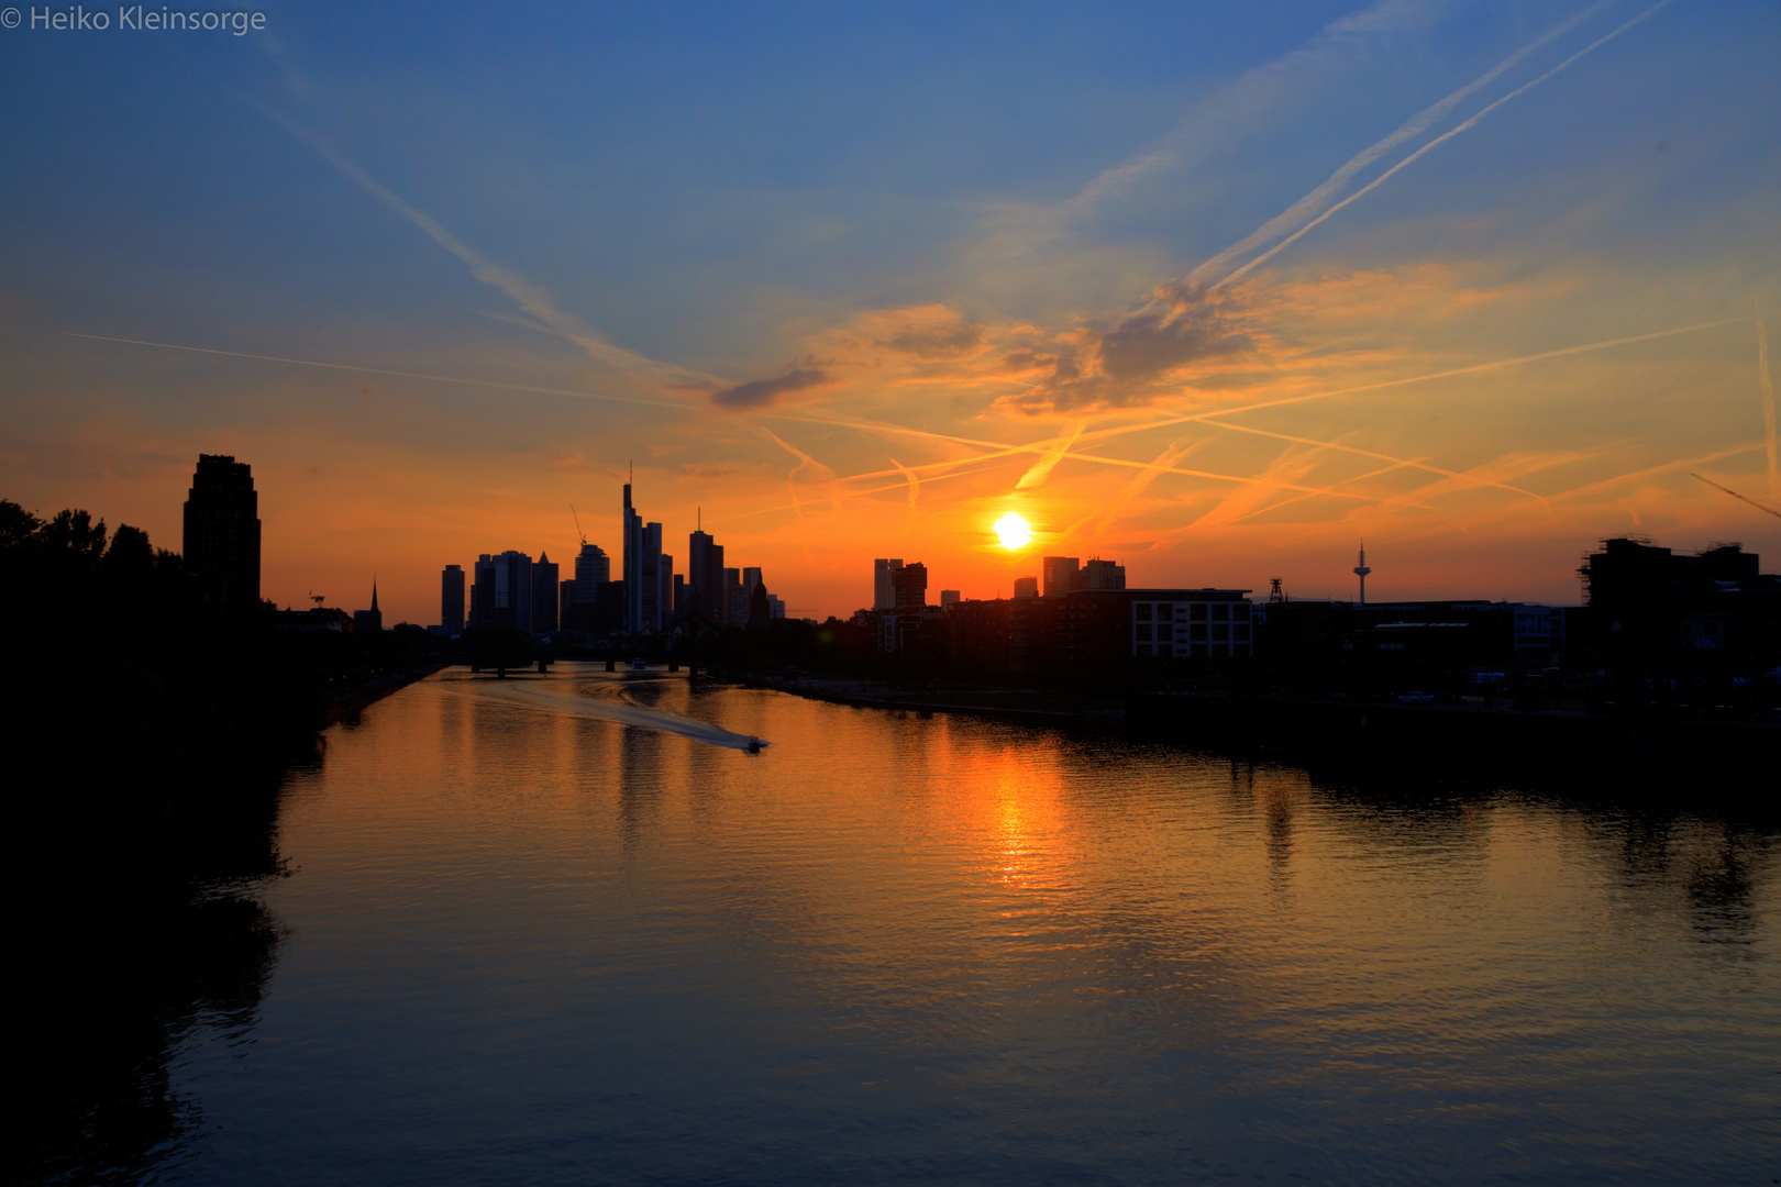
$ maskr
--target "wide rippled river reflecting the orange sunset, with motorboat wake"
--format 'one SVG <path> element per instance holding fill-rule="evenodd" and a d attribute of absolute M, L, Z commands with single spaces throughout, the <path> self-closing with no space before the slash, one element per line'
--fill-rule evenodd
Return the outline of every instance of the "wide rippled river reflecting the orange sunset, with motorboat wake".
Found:
<path fill-rule="evenodd" d="M 290 776 L 146 1178 L 1772 1183 L 1781 847 L 1692 799 L 443 673 Z"/>

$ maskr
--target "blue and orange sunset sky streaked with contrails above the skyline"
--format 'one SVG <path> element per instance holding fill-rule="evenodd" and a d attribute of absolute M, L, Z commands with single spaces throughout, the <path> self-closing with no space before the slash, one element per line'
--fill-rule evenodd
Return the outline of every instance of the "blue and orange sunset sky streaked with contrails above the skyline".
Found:
<path fill-rule="evenodd" d="M 262 591 L 620 548 L 1576 602 L 1781 568 L 1781 5 L 331 5 L 0 28 L 0 497 Z M 39 9 L 41 11 L 41 9 Z M 1010 553 L 992 523 L 1026 516 Z M 614 562 L 616 566 L 616 562 Z M 566 568 L 566 566 L 565 566 Z"/>

